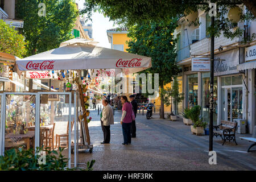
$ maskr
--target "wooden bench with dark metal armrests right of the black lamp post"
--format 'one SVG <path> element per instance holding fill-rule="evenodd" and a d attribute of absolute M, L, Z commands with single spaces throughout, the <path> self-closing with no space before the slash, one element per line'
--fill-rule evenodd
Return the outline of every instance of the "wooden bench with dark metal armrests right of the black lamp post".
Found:
<path fill-rule="evenodd" d="M 230 122 L 230 121 L 221 121 L 220 125 L 213 126 L 213 137 L 220 136 L 223 141 L 222 146 L 226 142 L 226 140 L 233 140 L 236 144 L 236 129 L 237 123 Z M 223 137 L 222 137 L 223 136 Z"/>

